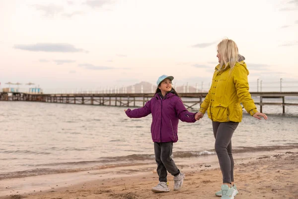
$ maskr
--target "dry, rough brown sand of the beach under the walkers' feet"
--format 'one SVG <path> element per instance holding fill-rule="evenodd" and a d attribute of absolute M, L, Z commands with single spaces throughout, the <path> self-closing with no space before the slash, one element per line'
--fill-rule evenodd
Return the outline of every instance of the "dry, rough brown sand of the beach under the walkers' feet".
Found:
<path fill-rule="evenodd" d="M 298 199 L 298 150 L 274 151 L 270 155 L 236 158 L 235 180 L 239 194 L 237 199 Z M 15 193 L 2 199 L 216 199 L 214 194 L 221 186 L 218 163 L 180 165 L 185 172 L 183 188 L 172 191 L 173 178 L 168 176 L 169 193 L 154 194 L 151 187 L 158 183 L 153 167 L 150 172 L 130 176 L 85 181 L 59 188 L 30 193 Z M 126 168 L 127 169 L 127 168 Z M 116 175 L 117 176 L 117 175 Z M 42 177 L 47 178 L 47 175 Z M 6 189 L 10 189 L 7 187 Z M 34 190 L 35 191 L 35 190 Z"/>

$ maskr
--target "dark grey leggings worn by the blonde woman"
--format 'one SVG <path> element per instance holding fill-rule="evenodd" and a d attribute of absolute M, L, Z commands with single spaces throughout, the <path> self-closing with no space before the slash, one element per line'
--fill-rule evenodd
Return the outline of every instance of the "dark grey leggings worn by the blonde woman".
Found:
<path fill-rule="evenodd" d="M 234 182 L 234 159 L 232 155 L 232 135 L 239 123 L 237 122 L 212 122 L 215 137 L 215 151 L 218 155 L 223 183 Z"/>

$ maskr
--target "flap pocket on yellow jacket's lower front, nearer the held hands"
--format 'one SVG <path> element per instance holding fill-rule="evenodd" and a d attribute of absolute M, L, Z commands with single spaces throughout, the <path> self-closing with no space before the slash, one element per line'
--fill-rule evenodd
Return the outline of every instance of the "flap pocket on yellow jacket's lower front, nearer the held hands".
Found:
<path fill-rule="evenodd" d="M 213 103 L 210 107 L 210 114 L 214 121 L 229 121 L 227 105 L 223 103 Z"/>

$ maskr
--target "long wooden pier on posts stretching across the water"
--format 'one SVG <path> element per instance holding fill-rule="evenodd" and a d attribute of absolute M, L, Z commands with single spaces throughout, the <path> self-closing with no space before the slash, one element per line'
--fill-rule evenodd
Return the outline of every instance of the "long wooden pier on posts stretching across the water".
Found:
<path fill-rule="evenodd" d="M 208 93 L 180 93 L 184 105 L 187 108 L 194 108 L 201 104 Z M 298 92 L 251 92 L 252 97 L 260 97 L 255 104 L 260 105 L 262 112 L 263 105 L 283 106 L 285 113 L 286 105 L 298 103 L 287 103 L 285 97 L 298 97 Z M 39 101 L 50 103 L 89 104 L 105 106 L 126 106 L 140 107 L 152 98 L 153 94 L 26 94 L 26 93 L 0 93 L 0 101 Z M 282 102 L 263 102 L 264 99 L 282 99 Z"/>

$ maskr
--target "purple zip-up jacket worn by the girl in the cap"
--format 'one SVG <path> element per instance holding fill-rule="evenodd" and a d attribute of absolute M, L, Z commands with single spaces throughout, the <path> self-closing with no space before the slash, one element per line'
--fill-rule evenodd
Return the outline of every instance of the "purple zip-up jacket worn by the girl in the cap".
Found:
<path fill-rule="evenodd" d="M 153 142 L 177 142 L 179 119 L 195 122 L 195 113 L 189 112 L 182 100 L 168 93 L 163 99 L 158 94 L 146 102 L 142 108 L 126 111 L 130 118 L 145 117 L 152 113 L 151 135 Z"/>

